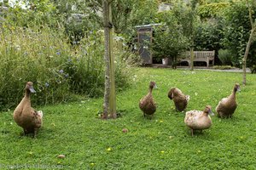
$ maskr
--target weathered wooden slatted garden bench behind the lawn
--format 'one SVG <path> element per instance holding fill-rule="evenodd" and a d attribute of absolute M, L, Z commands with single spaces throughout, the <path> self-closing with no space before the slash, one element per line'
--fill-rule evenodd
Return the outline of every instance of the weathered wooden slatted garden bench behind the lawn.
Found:
<path fill-rule="evenodd" d="M 212 62 L 212 65 L 214 65 L 214 54 L 215 51 L 194 51 L 194 61 L 204 61 L 207 62 L 207 67 L 209 67 L 210 62 Z M 189 63 L 190 66 L 190 52 L 186 51 L 184 52 L 180 59 L 180 62 L 186 61 Z"/>

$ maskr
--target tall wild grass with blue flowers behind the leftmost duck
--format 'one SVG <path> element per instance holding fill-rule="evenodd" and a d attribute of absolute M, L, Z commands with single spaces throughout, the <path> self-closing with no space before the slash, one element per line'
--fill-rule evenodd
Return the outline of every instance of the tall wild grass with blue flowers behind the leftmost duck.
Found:
<path fill-rule="evenodd" d="M 20 28 L 3 25 L 0 35 L 0 110 L 20 101 L 27 81 L 34 82 L 37 105 L 73 99 L 72 94 L 103 94 L 104 60 L 102 32 L 92 31 L 79 46 L 68 44 L 64 30 L 47 26 Z M 128 85 L 129 74 L 120 48 L 115 48 L 118 88 Z M 122 63 L 119 63 L 122 62 Z M 128 78 L 128 79 L 127 79 Z"/>

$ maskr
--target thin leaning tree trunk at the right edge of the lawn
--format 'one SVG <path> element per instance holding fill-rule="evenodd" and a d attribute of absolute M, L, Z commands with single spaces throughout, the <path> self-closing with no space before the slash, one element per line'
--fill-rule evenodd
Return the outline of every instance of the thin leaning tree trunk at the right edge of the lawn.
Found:
<path fill-rule="evenodd" d="M 243 59 L 242 59 L 242 84 L 246 85 L 247 83 L 247 56 L 249 54 L 250 46 L 253 41 L 253 33 L 255 31 L 255 28 L 253 27 L 250 33 L 250 37 L 247 42 L 247 48 L 244 53 Z"/>

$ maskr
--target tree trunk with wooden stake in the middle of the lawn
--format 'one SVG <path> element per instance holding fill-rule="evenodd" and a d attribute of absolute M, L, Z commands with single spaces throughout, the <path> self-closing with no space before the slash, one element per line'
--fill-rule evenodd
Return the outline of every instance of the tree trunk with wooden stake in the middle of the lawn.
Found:
<path fill-rule="evenodd" d="M 102 0 L 103 25 L 105 37 L 105 92 L 102 119 L 116 117 L 115 86 L 114 86 L 114 62 L 113 62 L 113 25 L 111 6 L 108 0 Z"/>

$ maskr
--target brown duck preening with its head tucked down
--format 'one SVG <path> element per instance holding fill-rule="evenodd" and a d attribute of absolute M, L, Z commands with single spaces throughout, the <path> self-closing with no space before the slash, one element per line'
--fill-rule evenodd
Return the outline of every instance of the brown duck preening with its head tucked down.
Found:
<path fill-rule="evenodd" d="M 183 94 L 178 88 L 171 88 L 168 98 L 173 99 L 176 111 L 184 111 L 189 103 L 189 95 Z"/>

